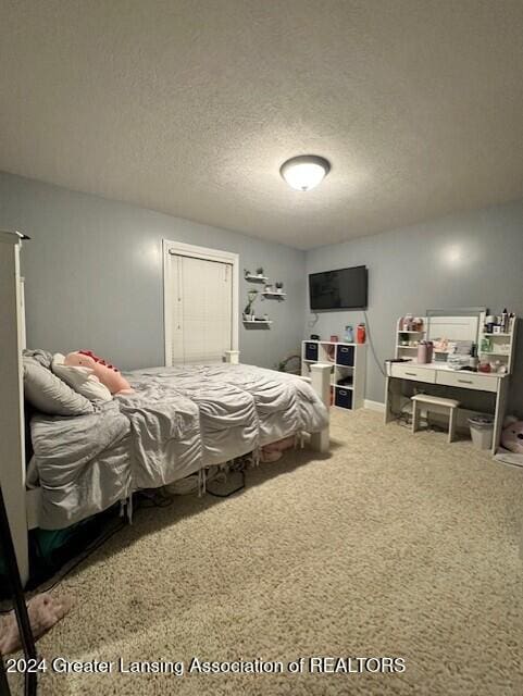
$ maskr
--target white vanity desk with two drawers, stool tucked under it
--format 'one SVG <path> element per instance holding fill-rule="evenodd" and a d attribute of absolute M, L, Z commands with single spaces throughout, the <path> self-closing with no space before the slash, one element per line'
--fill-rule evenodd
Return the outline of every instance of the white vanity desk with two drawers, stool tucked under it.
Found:
<path fill-rule="evenodd" d="M 462 413 L 461 418 L 458 419 L 458 425 L 464 426 L 469 415 L 478 411 L 489 412 L 494 415 L 491 450 L 494 453 L 498 448 L 503 425 L 509 376 L 508 374 L 451 370 L 446 363 L 437 362 L 427 364 L 421 364 L 413 360 L 409 362 L 387 362 L 385 422 L 389 423 L 391 420 L 397 419 L 401 412 L 401 402 L 409 401 L 410 397 L 404 395 L 406 391 L 409 391 L 409 384 L 412 387 L 412 383 L 422 383 L 426 394 L 431 394 L 431 389 L 433 391 L 436 390 L 431 385 L 451 387 L 453 390 L 462 393 L 462 398 L 457 396 L 463 402 L 462 408 L 460 408 Z M 473 393 L 485 395 L 485 408 L 466 408 L 466 397 L 471 397 Z M 481 394 L 476 396 L 481 397 Z"/>

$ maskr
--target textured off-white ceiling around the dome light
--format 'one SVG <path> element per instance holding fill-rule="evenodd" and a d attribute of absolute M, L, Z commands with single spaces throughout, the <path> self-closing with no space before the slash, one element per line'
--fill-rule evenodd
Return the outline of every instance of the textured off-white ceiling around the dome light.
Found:
<path fill-rule="evenodd" d="M 0 170 L 300 248 L 520 198 L 522 36 L 522 0 L 0 0 Z"/>

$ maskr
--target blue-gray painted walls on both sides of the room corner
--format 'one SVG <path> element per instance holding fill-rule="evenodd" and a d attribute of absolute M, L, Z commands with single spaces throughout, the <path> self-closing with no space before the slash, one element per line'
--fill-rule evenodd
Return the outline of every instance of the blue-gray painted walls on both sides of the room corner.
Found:
<path fill-rule="evenodd" d="M 366 264 L 369 320 L 379 362 L 394 355 L 406 312 L 486 306 L 523 315 L 523 202 L 452 215 L 404 229 L 309 251 L 219 229 L 0 173 L 0 228 L 33 239 L 23 249 L 27 339 L 67 351 L 89 347 L 123 369 L 162 364 L 162 239 L 235 251 L 240 269 L 263 265 L 282 279 L 286 302 L 258 303 L 270 331 L 240 325 L 245 362 L 273 366 L 302 337 L 343 335 L 361 312 L 325 312 L 311 324 L 307 273 Z M 306 258 L 307 257 L 307 258 Z M 249 284 L 241 282 L 240 308 Z M 307 308 L 303 326 L 303 307 Z M 518 356 L 523 352 L 520 327 Z M 383 401 L 384 380 L 369 352 L 366 398 Z M 512 406 L 523 415 L 523 358 L 516 360 Z"/>

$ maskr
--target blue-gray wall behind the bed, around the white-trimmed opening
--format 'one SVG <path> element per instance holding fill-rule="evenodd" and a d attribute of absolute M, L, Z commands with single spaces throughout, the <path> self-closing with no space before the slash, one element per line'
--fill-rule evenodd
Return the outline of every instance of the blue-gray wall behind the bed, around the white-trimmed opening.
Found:
<path fill-rule="evenodd" d="M 244 362 L 273 366 L 302 334 L 304 252 L 226 229 L 0 173 L 0 228 L 32 240 L 23 249 L 27 345 L 91 348 L 123 369 L 164 363 L 162 239 L 235 251 L 283 281 L 287 301 L 258 301 L 270 331 L 240 324 Z M 246 303 L 240 284 L 240 309 Z M 263 310 L 263 312 L 261 311 Z"/>

